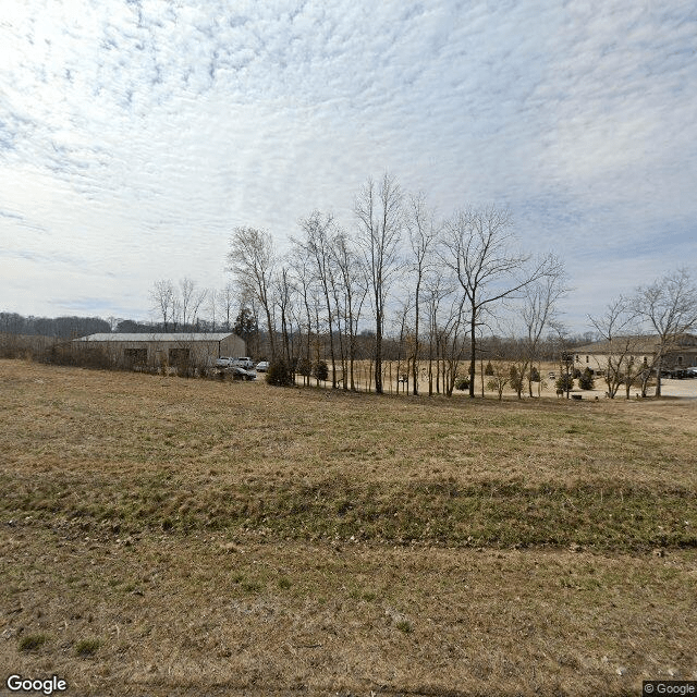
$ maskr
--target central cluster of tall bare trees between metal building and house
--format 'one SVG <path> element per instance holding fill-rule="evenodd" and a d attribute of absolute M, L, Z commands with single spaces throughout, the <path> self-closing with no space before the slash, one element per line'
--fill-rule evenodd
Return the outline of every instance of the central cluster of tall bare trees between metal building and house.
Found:
<path fill-rule="evenodd" d="M 298 229 L 280 255 L 268 232 L 236 228 L 229 270 L 239 295 L 264 316 L 272 357 L 309 364 L 319 358 L 320 338 L 328 338 L 334 388 L 341 380 L 354 389 L 362 327 L 360 333 L 370 328 L 378 393 L 389 331 L 393 340 L 399 335 L 398 362 L 414 394 L 424 367 L 429 393 L 436 382 L 451 394 L 463 362 L 474 375 L 482 337 L 505 322 L 526 333 L 518 368 L 529 376 L 565 292 L 561 261 L 517 249 L 506 210 L 466 208 L 439 220 L 423 194 L 404 193 L 389 174 L 360 188 L 351 231 L 317 210 Z"/>

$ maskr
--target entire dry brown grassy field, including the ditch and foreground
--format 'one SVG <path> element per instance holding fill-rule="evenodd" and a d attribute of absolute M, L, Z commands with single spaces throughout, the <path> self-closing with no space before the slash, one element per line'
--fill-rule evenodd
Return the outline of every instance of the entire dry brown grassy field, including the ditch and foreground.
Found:
<path fill-rule="evenodd" d="M 0 409 L 3 681 L 551 696 L 697 678 L 695 401 L 0 360 Z"/>

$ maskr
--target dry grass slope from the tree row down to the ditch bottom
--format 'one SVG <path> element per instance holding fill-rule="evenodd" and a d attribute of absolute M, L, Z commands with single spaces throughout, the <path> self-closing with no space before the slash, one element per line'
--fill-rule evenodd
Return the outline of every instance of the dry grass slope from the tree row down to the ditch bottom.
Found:
<path fill-rule="evenodd" d="M 697 405 L 378 398 L 0 363 L 2 514 L 441 546 L 697 543 Z"/>

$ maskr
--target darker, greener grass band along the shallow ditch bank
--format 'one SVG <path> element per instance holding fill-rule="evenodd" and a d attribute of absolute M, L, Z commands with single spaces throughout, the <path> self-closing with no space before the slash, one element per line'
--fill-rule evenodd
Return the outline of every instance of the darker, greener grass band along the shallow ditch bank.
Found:
<path fill-rule="evenodd" d="M 91 476 L 3 484 L 3 513 L 84 529 L 171 533 L 233 529 L 285 539 L 358 539 L 472 547 L 582 545 L 641 552 L 696 547 L 695 492 L 619 487 L 575 488 L 449 480 L 355 484 L 203 481 L 171 473 L 149 478 Z"/>

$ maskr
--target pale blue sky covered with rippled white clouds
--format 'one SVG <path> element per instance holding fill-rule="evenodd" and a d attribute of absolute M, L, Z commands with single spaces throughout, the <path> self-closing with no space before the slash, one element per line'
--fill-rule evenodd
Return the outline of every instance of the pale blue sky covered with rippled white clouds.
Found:
<path fill-rule="evenodd" d="M 694 0 L 2 0 L 0 311 L 155 317 L 389 172 L 508 208 L 588 329 L 697 266 Z"/>

